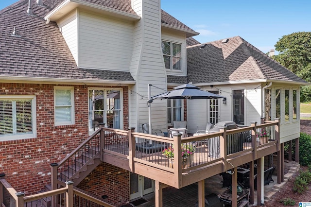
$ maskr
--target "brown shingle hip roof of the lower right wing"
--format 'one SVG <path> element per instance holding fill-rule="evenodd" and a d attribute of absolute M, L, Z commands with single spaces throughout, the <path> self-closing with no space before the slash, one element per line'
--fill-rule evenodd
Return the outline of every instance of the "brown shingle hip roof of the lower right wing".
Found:
<path fill-rule="evenodd" d="M 215 83 L 256 79 L 292 81 L 306 84 L 268 55 L 240 36 L 187 48 L 188 82 Z"/>

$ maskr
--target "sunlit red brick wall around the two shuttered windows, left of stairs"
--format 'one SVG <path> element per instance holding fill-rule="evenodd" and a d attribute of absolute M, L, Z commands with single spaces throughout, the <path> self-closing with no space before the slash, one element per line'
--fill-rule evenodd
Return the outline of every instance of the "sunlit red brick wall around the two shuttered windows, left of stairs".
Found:
<path fill-rule="evenodd" d="M 74 86 L 75 124 L 54 126 L 53 86 L 0 83 L 0 95 L 36 96 L 37 137 L 0 141 L 0 173 L 6 174 L 5 178 L 15 190 L 24 191 L 26 195 L 43 190 L 44 185 L 51 182 L 50 164 L 61 161 L 88 137 L 87 87 Z M 123 87 L 123 98 L 124 128 L 126 128 L 128 127 L 127 87 Z M 116 171 L 112 166 L 107 170 L 110 169 Z"/>

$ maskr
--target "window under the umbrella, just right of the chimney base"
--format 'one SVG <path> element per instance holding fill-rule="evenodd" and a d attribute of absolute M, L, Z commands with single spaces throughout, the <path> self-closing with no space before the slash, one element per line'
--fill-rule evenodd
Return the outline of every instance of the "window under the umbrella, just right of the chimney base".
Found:
<path fill-rule="evenodd" d="M 173 121 L 183 121 L 183 100 L 168 99 L 167 100 L 167 122 L 173 125 Z"/>

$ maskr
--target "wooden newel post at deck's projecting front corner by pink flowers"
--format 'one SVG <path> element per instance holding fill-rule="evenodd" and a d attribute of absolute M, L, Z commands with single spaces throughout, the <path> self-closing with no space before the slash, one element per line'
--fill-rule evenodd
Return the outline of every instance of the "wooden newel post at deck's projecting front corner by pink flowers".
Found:
<path fill-rule="evenodd" d="M 181 155 L 181 133 L 173 134 L 174 138 L 174 177 L 176 179 L 177 187 L 182 187 L 182 155 Z"/>

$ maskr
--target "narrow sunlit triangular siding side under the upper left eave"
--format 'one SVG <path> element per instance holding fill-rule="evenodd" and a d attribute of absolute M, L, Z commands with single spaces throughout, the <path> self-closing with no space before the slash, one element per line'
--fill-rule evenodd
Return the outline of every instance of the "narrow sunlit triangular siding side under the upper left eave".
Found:
<path fill-rule="evenodd" d="M 77 10 L 57 22 L 58 27 L 78 65 L 78 15 Z"/>

